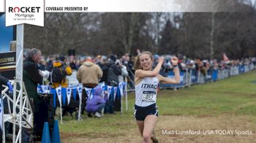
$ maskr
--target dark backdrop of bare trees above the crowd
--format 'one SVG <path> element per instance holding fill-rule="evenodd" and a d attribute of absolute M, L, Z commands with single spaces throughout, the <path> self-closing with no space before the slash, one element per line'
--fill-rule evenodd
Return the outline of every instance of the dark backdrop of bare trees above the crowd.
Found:
<path fill-rule="evenodd" d="M 218 1 L 219 2 L 219 1 Z M 218 3 L 217 3 L 218 4 Z M 45 55 L 182 53 L 192 58 L 256 55 L 255 5 L 240 0 L 238 12 L 47 13 L 45 27 L 25 26 L 24 47 Z"/>

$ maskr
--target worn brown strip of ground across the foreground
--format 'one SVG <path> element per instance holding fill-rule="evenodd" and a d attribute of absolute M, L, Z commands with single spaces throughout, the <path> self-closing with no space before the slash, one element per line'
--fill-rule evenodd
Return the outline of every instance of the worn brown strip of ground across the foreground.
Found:
<path fill-rule="evenodd" d="M 162 115 L 155 134 L 159 142 L 256 142 L 256 117 Z M 61 134 L 61 142 L 141 142 L 141 137 L 138 128 L 127 128 L 115 134 Z"/>

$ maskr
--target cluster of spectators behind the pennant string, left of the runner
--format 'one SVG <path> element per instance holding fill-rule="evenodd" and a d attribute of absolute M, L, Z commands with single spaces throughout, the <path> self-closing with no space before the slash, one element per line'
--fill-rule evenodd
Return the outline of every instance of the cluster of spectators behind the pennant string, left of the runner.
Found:
<path fill-rule="evenodd" d="M 120 82 L 128 82 L 129 87 L 134 88 L 133 61 L 130 59 L 131 56 L 128 54 L 121 58 L 117 58 L 116 55 L 110 55 L 109 57 L 105 55 L 97 55 L 96 57 L 75 57 L 74 55 L 65 57 L 64 55 L 50 55 L 47 58 L 42 58 L 41 61 L 37 63 L 37 69 L 39 71 L 49 71 L 51 73 L 51 76 L 48 80 L 44 81 L 44 84 L 50 84 L 52 88 L 58 88 L 59 86 L 70 88 L 82 84 L 84 88 L 97 89 L 100 82 L 105 82 L 105 85 L 113 87 L 118 86 L 118 83 Z M 61 77 L 61 74 L 55 74 L 58 70 L 60 73 L 66 73 L 65 76 Z M 97 100 L 95 98 L 90 99 L 86 91 L 83 90 L 82 114 L 86 112 L 89 117 L 92 115 L 101 117 L 103 112 L 100 112 L 101 115 L 99 115 L 99 109 L 102 109 L 102 106 L 104 106 L 104 110 L 102 111 L 104 111 L 105 114 L 115 114 L 116 112 L 121 111 L 121 98 L 116 97 L 111 93 L 109 98 L 105 99 L 103 104 L 102 100 L 99 100 L 99 93 L 100 92 L 94 92 Z M 104 98 L 104 96 L 102 97 Z M 94 101 L 100 102 L 94 103 Z M 63 115 L 67 113 L 72 115 L 72 112 L 78 112 L 78 101 L 72 101 L 71 103 L 75 104 L 63 106 Z M 101 106 L 97 104 L 100 104 Z M 99 109 L 94 109 L 94 106 L 99 107 Z M 94 112 L 92 112 L 91 108 L 94 109 Z M 78 114 L 75 114 L 76 117 L 77 115 Z"/>

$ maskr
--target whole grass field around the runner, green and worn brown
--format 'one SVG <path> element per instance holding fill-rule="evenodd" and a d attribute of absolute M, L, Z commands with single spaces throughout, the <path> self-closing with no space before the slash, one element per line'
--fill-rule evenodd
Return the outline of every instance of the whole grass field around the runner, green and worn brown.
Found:
<path fill-rule="evenodd" d="M 256 142 L 255 81 L 256 71 L 250 71 L 182 90 L 160 90 L 155 128 L 159 142 Z M 83 121 L 64 117 L 61 142 L 142 142 L 133 117 L 134 93 L 129 93 L 128 103 L 123 114 L 100 119 L 83 115 Z M 174 134 L 163 134 L 165 130 Z"/>

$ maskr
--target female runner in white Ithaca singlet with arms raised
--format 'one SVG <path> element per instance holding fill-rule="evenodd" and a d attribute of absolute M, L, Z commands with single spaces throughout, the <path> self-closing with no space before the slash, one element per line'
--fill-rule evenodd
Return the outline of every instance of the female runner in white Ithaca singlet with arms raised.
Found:
<path fill-rule="evenodd" d="M 178 70 L 178 58 L 171 58 L 173 64 L 174 79 L 162 77 L 159 74 L 165 58 L 159 58 L 157 66 L 152 70 L 154 58 L 146 51 L 140 53 L 135 61 L 135 119 L 143 142 L 158 142 L 154 135 L 154 127 L 157 123 L 157 86 L 162 84 L 178 84 L 180 74 Z"/>

